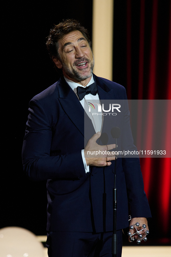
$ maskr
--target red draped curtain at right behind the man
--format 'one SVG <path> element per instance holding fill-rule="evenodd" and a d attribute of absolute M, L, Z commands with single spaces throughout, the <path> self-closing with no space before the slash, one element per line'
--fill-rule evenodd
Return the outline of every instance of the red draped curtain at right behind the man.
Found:
<path fill-rule="evenodd" d="M 127 0 L 126 9 L 126 87 L 128 99 L 170 100 L 171 1 L 141 0 L 137 2 L 139 5 L 135 1 Z M 135 7 L 135 5 L 137 6 Z M 137 17 L 136 27 L 134 16 Z M 138 40 L 138 46 L 135 48 L 134 42 Z M 136 71 L 138 73 L 137 83 L 135 79 L 133 80 L 133 77 L 136 77 Z M 137 93 L 135 94 L 136 86 Z M 139 113 L 141 113 L 141 106 L 139 106 Z M 155 109 L 151 105 L 147 114 L 149 133 L 146 136 L 146 146 L 148 150 L 152 143 L 152 131 L 155 129 L 153 127 L 154 113 Z M 165 150 L 171 152 L 171 102 L 168 103 L 164 115 L 166 115 Z M 160 226 L 162 235 L 168 236 L 171 217 L 171 158 L 141 158 L 140 161 L 144 189 L 152 209 L 153 219 Z"/>

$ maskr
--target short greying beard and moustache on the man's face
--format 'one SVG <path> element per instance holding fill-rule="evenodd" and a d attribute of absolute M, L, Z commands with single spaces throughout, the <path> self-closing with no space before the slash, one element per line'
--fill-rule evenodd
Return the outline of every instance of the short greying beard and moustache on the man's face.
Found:
<path fill-rule="evenodd" d="M 80 62 L 87 62 L 90 64 L 90 68 L 89 71 L 86 72 L 87 68 L 82 69 L 81 71 L 78 71 L 76 70 L 76 68 L 74 68 L 76 65 L 78 65 L 78 63 Z M 87 58 L 82 58 L 82 59 L 79 59 L 79 60 L 76 60 L 74 63 L 73 63 L 73 66 L 70 68 L 67 64 L 63 63 L 62 60 L 61 60 L 61 63 L 62 63 L 62 69 L 65 71 L 65 73 L 73 78 L 73 79 L 76 79 L 77 81 L 83 81 L 85 79 L 88 79 L 92 73 L 93 73 L 93 68 L 94 68 L 94 56 L 92 57 L 92 59 L 87 59 Z M 84 74 L 85 73 L 85 74 Z"/>

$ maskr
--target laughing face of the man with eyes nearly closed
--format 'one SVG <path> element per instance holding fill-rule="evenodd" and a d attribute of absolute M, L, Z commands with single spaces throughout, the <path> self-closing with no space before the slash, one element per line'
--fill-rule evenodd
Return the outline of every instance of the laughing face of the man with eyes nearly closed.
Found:
<path fill-rule="evenodd" d="M 58 52 L 60 67 L 68 79 L 80 82 L 90 80 L 94 68 L 94 57 L 89 43 L 78 30 L 60 39 Z M 55 62 L 55 61 L 54 61 Z M 55 62 L 56 63 L 56 62 Z"/>

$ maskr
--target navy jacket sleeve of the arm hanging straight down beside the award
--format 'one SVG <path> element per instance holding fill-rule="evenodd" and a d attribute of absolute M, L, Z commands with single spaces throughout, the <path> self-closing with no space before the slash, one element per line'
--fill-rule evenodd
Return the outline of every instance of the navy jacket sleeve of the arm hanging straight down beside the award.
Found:
<path fill-rule="evenodd" d="M 125 111 L 122 131 L 122 146 L 126 151 L 137 151 L 133 142 L 130 127 L 130 113 L 125 91 Z M 127 156 L 127 157 L 126 157 Z M 144 192 L 144 182 L 141 173 L 139 157 L 137 155 L 126 155 L 122 157 L 122 167 L 125 174 L 128 202 L 130 204 L 131 217 L 151 217 L 150 207 Z M 131 157 L 133 156 L 133 157 Z M 137 158 L 138 157 L 138 158 Z"/>

